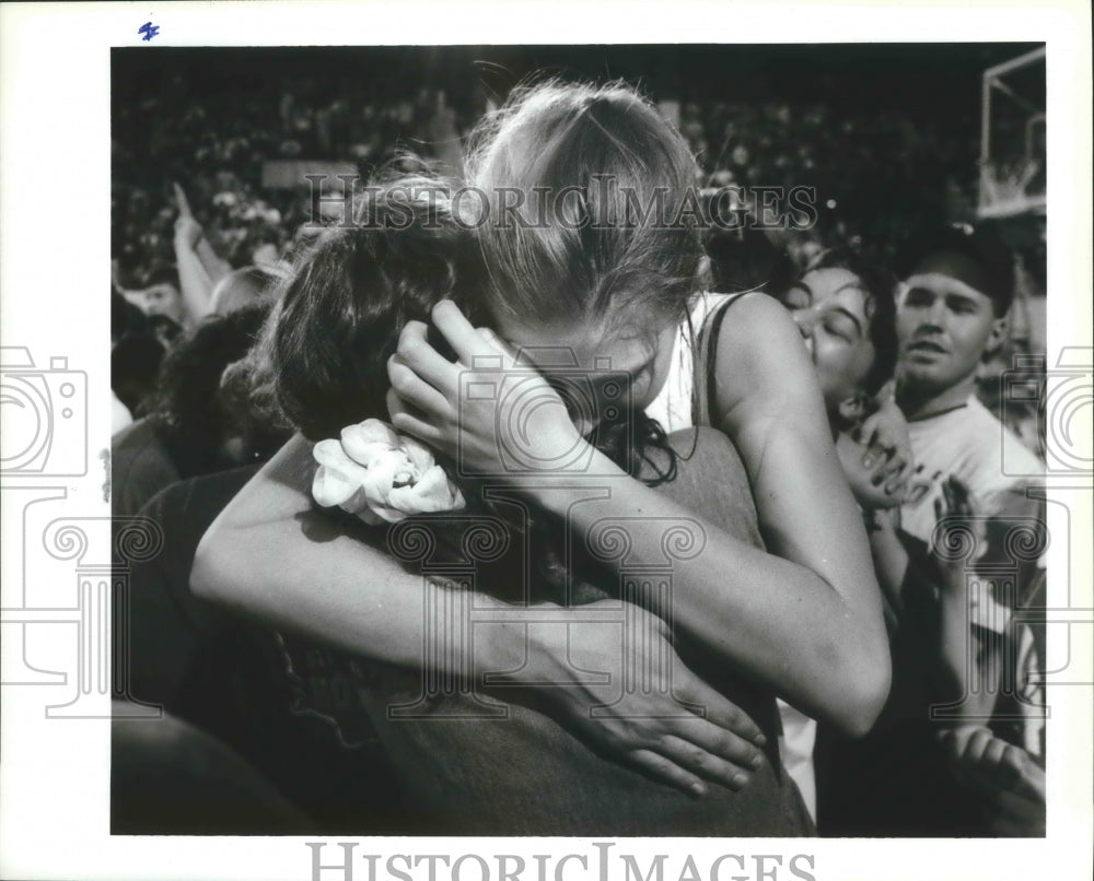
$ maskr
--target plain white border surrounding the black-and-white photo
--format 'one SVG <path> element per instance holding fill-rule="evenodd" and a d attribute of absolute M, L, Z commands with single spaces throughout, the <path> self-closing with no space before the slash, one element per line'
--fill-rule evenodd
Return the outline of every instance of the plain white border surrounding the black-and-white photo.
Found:
<path fill-rule="evenodd" d="M 671 14 L 666 11 L 671 8 Z M 4 346 L 24 346 L 38 368 L 53 357 L 85 374 L 85 437 L 62 433 L 74 445 L 72 461 L 82 473 L 57 478 L 4 479 L 3 609 L 22 608 L 39 590 L 36 573 L 57 571 L 43 542 L 28 530 L 56 517 L 85 519 L 91 545 L 108 547 L 101 450 L 108 450 L 109 362 L 109 70 L 110 48 L 148 45 L 138 28 L 160 28 L 155 45 L 404 45 L 568 43 L 849 43 L 849 42 L 1044 42 L 1047 44 L 1049 138 L 1048 298 L 1049 367 L 1068 349 L 1091 351 L 1091 43 L 1084 0 L 1041 2 L 181 2 L 4 4 L 0 8 L 0 295 Z M 1081 428 L 1090 431 L 1087 423 Z M 77 414 L 77 421 L 81 414 Z M 2 428 L 0 428 L 2 430 Z M 83 445 L 81 450 L 80 445 Z M 73 471 L 79 471 L 73 467 Z M 1067 668 L 1064 679 L 1090 681 L 1091 656 L 1091 480 L 1079 475 L 1050 481 L 1050 497 L 1067 504 L 1067 547 L 1050 551 L 1050 573 L 1070 573 L 1063 584 L 1050 575 L 1050 604 L 1069 611 L 1070 655 L 1056 646 L 1049 669 Z M 63 505 L 42 519 L 42 506 L 19 500 L 38 493 Z M 1055 507 L 1055 506 L 1054 506 Z M 37 519 L 36 519 L 37 518 Z M 1068 525 L 1070 524 L 1070 526 Z M 33 539 L 33 540 L 32 540 Z M 97 545 L 96 545 L 97 543 Z M 16 551 L 15 549 L 20 549 Z M 25 553 L 23 552 L 25 550 Z M 1069 559 L 1070 551 L 1070 559 Z M 42 567 L 40 569 L 38 567 Z M 63 573 L 65 567 L 60 571 Z M 71 564 L 68 572 L 71 573 Z M 1082 610 L 1087 610 L 1082 613 Z M 5 612 L 7 614 L 7 612 Z M 58 613 L 60 618 L 63 614 Z M 14 618 L 4 619 L 3 662 L 19 663 L 11 639 Z M 14 622 L 14 623 L 12 623 Z M 57 645 L 36 650 L 71 660 L 75 625 L 58 626 Z M 67 660 L 66 660 L 67 659 Z M 75 683 L 69 683 L 74 686 Z M 312 850 L 298 837 L 135 837 L 109 835 L 108 698 L 102 718 L 46 718 L 55 703 L 47 686 L 4 685 L 0 738 L 0 877 L 20 879 L 264 879 L 310 881 Z M 701 878 L 724 854 L 721 878 L 761 877 L 756 856 L 781 855 L 772 878 L 792 873 L 794 855 L 812 862 L 798 868 L 818 881 L 883 879 L 985 879 L 1091 876 L 1092 689 L 1049 685 L 1048 835 L 1045 839 L 618 839 L 616 853 L 632 854 L 644 871 L 657 854 L 676 881 L 683 854 L 695 856 Z M 894 794 L 895 798 L 899 794 Z M 323 862 L 339 861 L 337 842 Z M 356 839 L 353 878 L 371 879 L 365 854 L 383 855 L 375 878 L 386 878 L 384 860 L 397 854 L 523 855 L 534 872 L 535 854 L 580 854 L 567 864 L 566 879 L 596 878 L 591 841 L 569 839 Z M 401 862 L 396 864 L 404 868 Z M 548 865 L 548 872 L 554 866 Z M 621 864 L 615 864 L 622 874 Z M 412 870 L 424 878 L 424 867 Z M 347 877 L 324 870 L 322 881 Z M 442 872 L 441 878 L 445 874 Z M 464 877 L 478 878 L 468 866 Z M 497 877 L 492 874 L 491 877 Z M 612 876 L 616 877 L 615 874 Z M 688 876 L 685 876 L 688 877 Z"/>

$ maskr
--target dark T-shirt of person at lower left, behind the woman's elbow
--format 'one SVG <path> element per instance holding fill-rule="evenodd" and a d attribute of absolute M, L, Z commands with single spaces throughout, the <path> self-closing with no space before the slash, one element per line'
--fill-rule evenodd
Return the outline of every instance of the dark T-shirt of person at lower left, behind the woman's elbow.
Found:
<path fill-rule="evenodd" d="M 140 510 L 160 525 L 164 545 L 129 573 L 128 624 L 116 636 L 129 663 L 116 666 L 115 692 L 163 705 L 220 739 L 321 831 L 392 832 L 396 791 L 374 732 L 347 743 L 326 719 L 299 712 L 294 689 L 315 671 L 290 677 L 276 634 L 189 589 L 202 535 L 256 471 L 175 483 Z M 324 655 L 313 653 L 319 672 Z"/>

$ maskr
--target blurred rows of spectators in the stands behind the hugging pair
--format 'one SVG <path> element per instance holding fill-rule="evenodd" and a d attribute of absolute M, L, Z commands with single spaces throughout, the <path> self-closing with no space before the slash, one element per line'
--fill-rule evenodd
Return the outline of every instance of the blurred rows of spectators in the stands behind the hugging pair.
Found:
<path fill-rule="evenodd" d="M 283 268 L 317 216 L 317 204 L 306 181 L 295 188 L 264 186 L 267 163 L 340 163 L 368 176 L 403 152 L 449 160 L 489 109 L 485 93 L 453 102 L 440 87 L 350 77 L 251 78 L 238 87 L 200 93 L 191 85 L 177 72 L 159 92 L 148 90 L 141 99 L 114 107 L 114 289 L 161 316 L 161 342 L 172 336 L 168 319 L 185 327 L 200 317 L 183 315 L 170 290 L 178 287 L 179 185 L 207 255 L 220 261 L 212 274 Z M 955 141 L 938 127 L 913 124 L 896 107 L 864 114 L 834 102 L 752 105 L 663 97 L 698 157 L 702 177 L 696 183 L 707 193 L 724 187 L 747 193 L 757 186 L 783 191 L 807 186 L 815 193 L 811 228 L 711 231 L 713 281 L 725 290 L 769 281 L 787 256 L 801 268 L 837 243 L 866 240 L 892 257 L 918 231 L 975 215 L 975 127 Z M 755 215 L 755 203 L 752 209 Z M 1015 228 L 1012 340 L 998 363 L 986 367 L 984 399 L 1036 447 L 1040 442 L 1031 428 L 1036 414 L 1005 412 L 999 395 L 1000 374 L 1014 355 L 1044 349 L 1043 219 L 1032 234 L 1028 223 Z M 133 409 L 131 401 L 128 407 Z"/>

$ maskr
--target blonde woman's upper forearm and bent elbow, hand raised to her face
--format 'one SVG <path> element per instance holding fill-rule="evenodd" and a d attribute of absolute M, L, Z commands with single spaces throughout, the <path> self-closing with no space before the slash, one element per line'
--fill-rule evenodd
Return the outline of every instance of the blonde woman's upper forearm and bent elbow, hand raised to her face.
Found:
<path fill-rule="evenodd" d="M 603 463 L 594 465 L 598 473 L 609 472 Z M 679 631 L 803 712 L 848 731 L 869 729 L 888 688 L 876 585 L 837 589 L 802 565 L 732 538 L 638 481 L 580 482 L 610 486 L 610 497 L 547 482 L 534 494 L 568 519 L 575 537 L 595 536 L 603 521 L 622 527 L 624 571 L 664 568 L 670 564 L 662 550 L 666 531 L 674 522 L 698 526 L 702 549 L 671 561 L 672 606 L 667 612 L 659 610 Z"/>

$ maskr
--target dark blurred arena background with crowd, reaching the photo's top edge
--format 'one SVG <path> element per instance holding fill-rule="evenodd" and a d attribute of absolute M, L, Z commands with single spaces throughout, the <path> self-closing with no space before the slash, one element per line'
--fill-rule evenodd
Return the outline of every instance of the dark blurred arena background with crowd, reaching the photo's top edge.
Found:
<path fill-rule="evenodd" d="M 181 196 L 195 221 L 186 235 L 202 245 L 207 287 L 229 269 L 277 272 L 321 218 L 305 174 L 368 177 L 405 153 L 454 165 L 475 121 L 532 74 L 638 83 L 689 142 L 701 168 L 697 186 L 708 195 L 728 186 L 813 188 L 810 230 L 711 231 L 711 274 L 723 290 L 761 284 L 788 254 L 800 267 L 823 248 L 851 244 L 885 258 L 923 230 L 977 220 L 981 74 L 1028 48 L 118 49 L 114 294 L 162 316 L 153 318 L 154 336 L 170 343 L 213 310 L 187 304 L 181 291 Z M 1043 102 L 1043 82 L 1026 99 L 1038 101 L 1037 87 Z M 1012 129 L 996 142 L 1028 137 L 1021 121 Z M 1043 187 L 1044 163 L 1031 174 Z M 1013 345 L 1002 365 L 1045 348 L 1045 219 L 1024 211 L 997 226 L 1019 275 Z M 128 375 L 117 384 L 149 385 L 132 376 L 150 369 L 150 346 L 140 348 L 120 359 L 135 366 L 123 363 Z M 991 373 L 989 403 L 998 400 Z M 118 397 L 130 411 L 141 408 L 140 395 Z"/>

